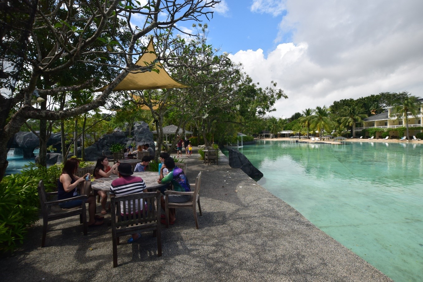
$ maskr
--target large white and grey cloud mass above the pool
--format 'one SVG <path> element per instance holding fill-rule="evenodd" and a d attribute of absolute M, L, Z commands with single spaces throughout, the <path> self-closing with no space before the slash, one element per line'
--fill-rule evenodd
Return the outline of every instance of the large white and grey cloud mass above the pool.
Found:
<path fill-rule="evenodd" d="M 293 42 L 267 57 L 261 49 L 231 55 L 255 82 L 274 80 L 289 96 L 272 115 L 385 91 L 423 96 L 423 1 L 255 0 L 252 9 L 274 14 L 283 3 L 278 38 Z"/>

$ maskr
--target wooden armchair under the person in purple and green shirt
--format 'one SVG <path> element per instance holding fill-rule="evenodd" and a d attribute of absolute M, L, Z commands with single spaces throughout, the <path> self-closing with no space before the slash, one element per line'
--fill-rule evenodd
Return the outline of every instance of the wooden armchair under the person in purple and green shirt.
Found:
<path fill-rule="evenodd" d="M 176 191 L 165 191 L 165 216 L 166 216 L 166 228 L 169 228 L 169 208 L 192 208 L 195 219 L 195 228 L 198 229 L 198 220 L 197 220 L 197 204 L 198 210 L 201 213 L 200 205 L 200 185 L 201 185 L 201 172 L 198 173 L 197 178 L 195 178 L 195 188 L 194 192 L 176 192 Z M 169 203 L 169 197 L 167 195 L 191 195 L 190 200 L 185 203 Z"/>

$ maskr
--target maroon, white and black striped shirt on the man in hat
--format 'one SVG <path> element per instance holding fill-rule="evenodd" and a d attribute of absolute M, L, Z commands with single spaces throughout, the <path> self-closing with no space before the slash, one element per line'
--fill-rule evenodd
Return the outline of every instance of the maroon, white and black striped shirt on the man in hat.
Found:
<path fill-rule="evenodd" d="M 138 176 L 122 176 L 112 181 L 110 185 L 110 195 L 124 196 L 134 193 L 141 193 L 146 188 L 146 183 Z M 128 209 L 128 201 L 126 201 L 126 210 Z M 142 210 L 143 207 L 140 208 Z M 133 208 L 131 207 L 131 210 Z M 135 201 L 135 210 L 138 210 L 138 201 Z M 121 213 L 124 211 L 124 203 L 121 202 Z M 131 212 L 132 214 L 132 212 Z"/>

